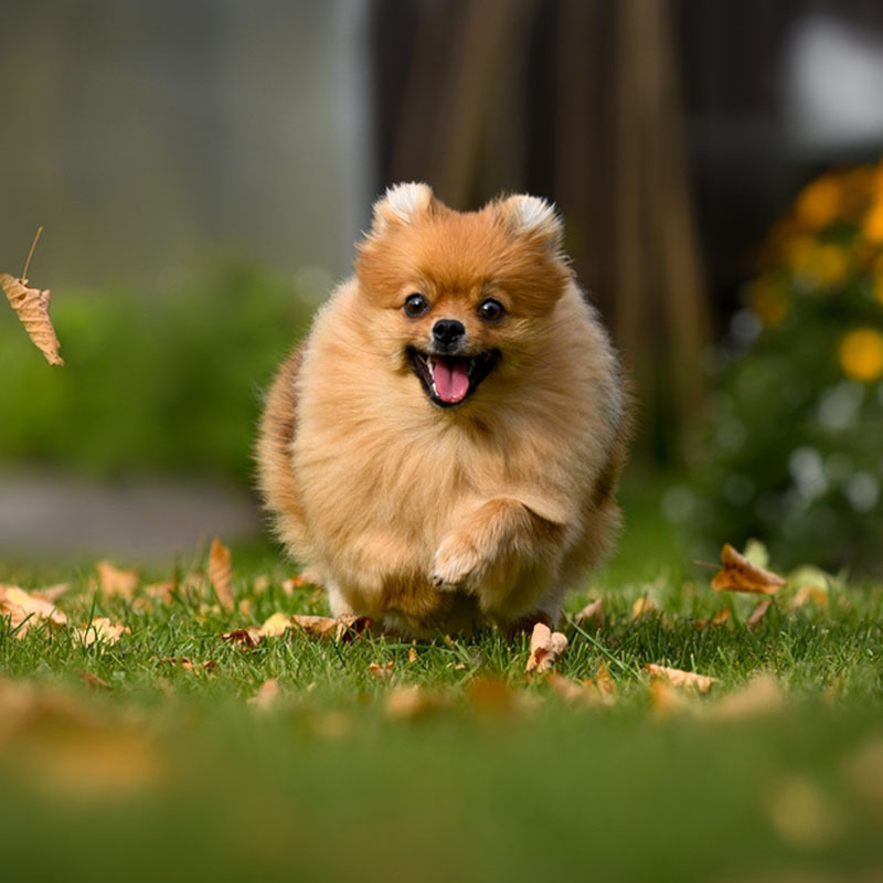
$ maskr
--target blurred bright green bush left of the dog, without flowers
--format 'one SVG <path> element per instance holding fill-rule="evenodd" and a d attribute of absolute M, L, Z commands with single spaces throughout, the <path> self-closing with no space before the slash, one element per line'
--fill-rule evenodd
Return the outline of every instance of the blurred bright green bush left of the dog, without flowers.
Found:
<path fill-rule="evenodd" d="M 246 481 L 262 390 L 309 312 L 245 265 L 162 294 L 60 289 L 54 369 L 0 312 L 0 466 Z"/>

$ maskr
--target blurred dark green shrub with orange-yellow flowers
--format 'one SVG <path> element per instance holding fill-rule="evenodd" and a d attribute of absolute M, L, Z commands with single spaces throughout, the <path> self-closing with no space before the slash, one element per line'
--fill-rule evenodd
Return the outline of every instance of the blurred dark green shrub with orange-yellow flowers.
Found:
<path fill-rule="evenodd" d="M 693 439 L 699 496 L 669 513 L 715 546 L 883 571 L 883 163 L 811 182 L 745 295 Z"/>

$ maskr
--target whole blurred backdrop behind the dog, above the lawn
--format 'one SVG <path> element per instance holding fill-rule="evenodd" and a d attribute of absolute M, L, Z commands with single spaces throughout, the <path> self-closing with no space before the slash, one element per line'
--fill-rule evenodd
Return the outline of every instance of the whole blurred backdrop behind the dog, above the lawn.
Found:
<path fill-rule="evenodd" d="M 554 201 L 638 402 L 625 554 L 883 572 L 875 0 L 3 2 L 0 554 L 266 541 L 262 390 L 373 199 Z M 260 540 L 259 538 L 264 538 Z"/>

